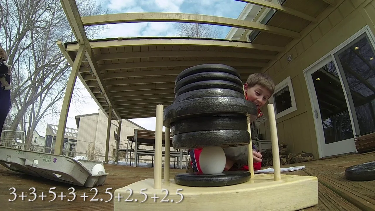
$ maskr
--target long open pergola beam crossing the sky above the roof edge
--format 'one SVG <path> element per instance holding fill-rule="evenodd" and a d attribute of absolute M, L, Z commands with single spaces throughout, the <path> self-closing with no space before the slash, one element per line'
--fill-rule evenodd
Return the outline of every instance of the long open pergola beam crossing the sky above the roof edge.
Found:
<path fill-rule="evenodd" d="M 240 29 L 251 29 L 260 32 L 267 32 L 291 38 L 301 38 L 299 32 L 282 29 L 275 26 L 255 23 L 251 21 L 224 18 L 212 15 L 172 13 L 172 12 L 132 12 L 121 14 L 105 14 L 81 17 L 83 26 L 95 26 L 102 24 L 116 23 L 142 23 L 142 22 L 180 22 L 180 23 L 201 23 L 218 26 L 229 26 Z"/>

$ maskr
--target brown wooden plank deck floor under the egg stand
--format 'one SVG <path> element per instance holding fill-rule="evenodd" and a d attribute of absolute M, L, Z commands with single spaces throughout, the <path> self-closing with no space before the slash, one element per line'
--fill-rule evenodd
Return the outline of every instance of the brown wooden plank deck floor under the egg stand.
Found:
<path fill-rule="evenodd" d="M 354 182 L 345 179 L 345 168 L 364 163 L 367 161 L 375 160 L 375 152 L 368 154 L 347 155 L 344 157 L 331 158 L 327 160 L 310 161 L 305 163 L 293 164 L 293 166 L 305 165 L 303 170 L 289 172 L 288 174 L 294 175 L 312 175 L 317 176 L 319 181 L 319 204 L 317 206 L 304 209 L 305 211 L 357 211 L 357 210 L 375 210 L 375 181 Z M 291 165 L 284 165 L 288 167 Z M 106 194 L 107 188 L 112 188 L 111 193 L 115 189 L 124 187 L 135 181 L 145 178 L 153 177 L 153 169 L 142 167 L 128 167 L 128 166 L 114 166 L 105 165 L 108 175 L 105 185 L 98 187 L 98 194 L 95 198 L 103 198 L 104 200 L 110 199 L 110 195 Z M 184 172 L 180 169 L 171 169 L 171 178 L 176 174 Z M 22 192 L 27 195 L 24 200 L 17 197 L 16 200 L 9 202 L 14 198 L 13 190 L 16 188 L 17 195 Z M 44 200 L 37 197 L 34 201 L 29 202 L 28 199 L 34 198 L 30 194 L 31 187 L 36 189 L 36 194 L 39 196 L 44 192 L 47 196 Z M 52 202 L 48 200 L 53 199 L 54 195 L 48 193 L 51 187 L 55 187 L 53 191 L 57 197 Z M 75 186 L 75 200 L 71 200 L 73 195 L 69 195 L 69 188 L 72 185 L 63 184 L 60 182 L 49 181 L 45 179 L 34 178 L 27 175 L 18 175 L 15 172 L 7 170 L 5 167 L 0 166 L 0 210 L 13 211 L 13 210 L 37 210 L 37 211 L 95 211 L 95 210 L 113 210 L 113 200 L 110 202 L 104 201 L 90 201 L 95 195 L 95 191 L 90 191 L 91 188 Z M 287 193 L 288 190 L 285 192 Z M 66 196 L 63 200 L 58 197 L 60 193 Z M 86 193 L 86 201 L 80 197 Z"/>

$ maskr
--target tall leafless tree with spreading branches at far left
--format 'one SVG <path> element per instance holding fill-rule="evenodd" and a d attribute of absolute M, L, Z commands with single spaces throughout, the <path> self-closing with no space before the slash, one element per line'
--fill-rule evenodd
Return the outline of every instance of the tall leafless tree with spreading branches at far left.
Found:
<path fill-rule="evenodd" d="M 95 1 L 76 2 L 81 16 L 107 12 Z M 70 75 L 71 67 L 55 42 L 75 38 L 60 0 L 0 0 L 0 5 L 0 42 L 13 68 L 11 119 L 7 126 L 9 130 L 25 131 L 28 149 L 37 124 L 60 114 L 59 103 Z M 103 29 L 87 27 L 88 38 Z M 77 85 L 73 97 L 82 99 Z"/>

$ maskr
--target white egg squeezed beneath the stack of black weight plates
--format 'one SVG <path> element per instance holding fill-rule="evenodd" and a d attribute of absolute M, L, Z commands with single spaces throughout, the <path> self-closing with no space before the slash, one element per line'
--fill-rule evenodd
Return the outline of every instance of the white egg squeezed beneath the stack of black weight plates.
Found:
<path fill-rule="evenodd" d="M 201 170 L 206 174 L 222 173 L 225 161 L 225 153 L 220 146 L 204 147 L 199 155 Z"/>

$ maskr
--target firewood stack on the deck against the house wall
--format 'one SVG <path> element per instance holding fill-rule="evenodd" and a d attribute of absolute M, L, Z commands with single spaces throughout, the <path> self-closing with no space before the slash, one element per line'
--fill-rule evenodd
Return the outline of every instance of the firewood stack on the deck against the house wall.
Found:
<path fill-rule="evenodd" d="M 287 144 L 279 144 L 279 154 L 280 154 L 280 164 L 291 164 L 291 163 L 301 163 L 314 159 L 314 156 L 308 152 L 302 152 L 298 154 L 288 153 Z M 272 161 L 272 149 L 266 149 L 262 152 L 262 166 L 273 166 Z"/>

